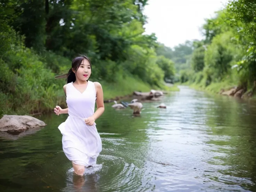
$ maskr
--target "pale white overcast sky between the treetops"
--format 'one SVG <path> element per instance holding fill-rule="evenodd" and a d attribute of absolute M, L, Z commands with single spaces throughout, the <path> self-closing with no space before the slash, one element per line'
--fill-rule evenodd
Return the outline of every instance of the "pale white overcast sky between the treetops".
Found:
<path fill-rule="evenodd" d="M 174 47 L 186 40 L 202 39 L 199 31 L 204 18 L 214 16 L 228 0 L 149 0 L 146 34 L 155 33 L 158 41 Z"/>

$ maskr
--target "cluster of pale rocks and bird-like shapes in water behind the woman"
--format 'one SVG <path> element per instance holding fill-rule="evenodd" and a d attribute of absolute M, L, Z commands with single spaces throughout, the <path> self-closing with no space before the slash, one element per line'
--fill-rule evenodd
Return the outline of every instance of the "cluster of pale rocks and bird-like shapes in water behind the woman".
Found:
<path fill-rule="evenodd" d="M 162 91 L 156 91 L 151 90 L 149 93 L 143 93 L 139 91 L 134 91 L 134 95 L 137 97 L 140 97 L 140 100 L 145 101 L 160 101 L 162 99 L 162 96 L 167 93 L 163 93 Z M 121 101 L 120 103 L 117 103 L 117 101 L 113 101 L 115 104 L 112 105 L 114 109 L 126 109 L 127 107 L 130 107 L 133 109 L 133 114 L 141 114 L 143 105 L 141 102 L 138 101 L 138 99 L 131 100 L 130 103 Z M 166 105 L 164 103 L 161 103 L 158 108 L 166 108 Z"/>

